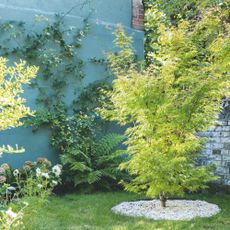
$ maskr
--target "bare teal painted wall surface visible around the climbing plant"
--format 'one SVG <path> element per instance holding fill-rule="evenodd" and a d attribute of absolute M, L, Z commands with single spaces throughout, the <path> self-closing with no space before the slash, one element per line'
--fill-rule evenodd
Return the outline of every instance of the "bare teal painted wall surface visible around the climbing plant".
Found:
<path fill-rule="evenodd" d="M 42 14 L 53 18 L 55 13 L 68 12 L 72 7 L 81 5 L 81 0 L 1 0 L 0 15 L 3 21 L 16 20 L 31 24 L 35 15 Z M 84 85 L 103 79 L 105 71 L 102 66 L 95 66 L 89 62 L 89 58 L 103 58 L 104 52 L 113 49 L 112 32 L 116 25 L 122 24 L 126 33 L 133 35 L 134 45 L 139 58 L 143 58 L 143 32 L 133 30 L 131 25 L 132 5 L 131 0 L 91 0 L 90 4 L 82 9 L 74 8 L 67 16 L 68 25 L 76 26 L 82 24 L 82 20 L 89 13 L 91 31 L 83 41 L 81 56 L 85 61 L 86 77 Z M 74 82 L 73 82 L 74 84 Z M 25 97 L 27 105 L 36 110 L 35 99 L 38 95 L 36 89 L 26 89 Z M 67 95 L 71 99 L 71 95 Z M 49 132 L 47 129 L 32 133 L 28 128 L 10 129 L 0 133 L 0 144 L 18 144 L 26 149 L 23 154 L 3 154 L 0 163 L 8 162 L 14 167 L 20 167 L 25 160 L 35 160 L 44 156 L 53 162 L 58 161 L 57 154 L 49 147 Z"/>

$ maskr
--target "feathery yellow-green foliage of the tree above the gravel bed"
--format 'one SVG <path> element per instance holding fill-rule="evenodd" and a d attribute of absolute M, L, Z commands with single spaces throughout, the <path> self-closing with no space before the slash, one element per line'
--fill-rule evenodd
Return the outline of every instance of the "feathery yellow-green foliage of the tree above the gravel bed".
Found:
<path fill-rule="evenodd" d="M 121 51 L 109 55 L 116 78 L 107 92 L 111 103 L 101 114 L 130 125 L 126 144 L 131 160 L 121 168 L 135 179 L 124 183 L 127 190 L 151 197 L 162 191 L 183 195 L 216 179 L 210 167 L 196 166 L 204 143 L 196 133 L 214 124 L 228 94 L 228 17 L 228 11 L 216 6 L 194 23 L 182 20 L 174 27 L 159 22 L 157 61 L 145 70 L 138 70 L 130 38 L 124 39 L 118 28 Z M 126 64 L 125 71 L 120 63 L 122 68 Z"/>

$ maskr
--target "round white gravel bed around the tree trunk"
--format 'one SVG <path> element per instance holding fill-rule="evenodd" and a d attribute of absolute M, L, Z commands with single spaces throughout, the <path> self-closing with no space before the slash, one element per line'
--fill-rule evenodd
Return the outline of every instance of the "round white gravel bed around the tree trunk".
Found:
<path fill-rule="evenodd" d="M 112 208 L 118 214 L 146 217 L 153 220 L 191 220 L 195 217 L 210 217 L 220 208 L 200 200 L 168 200 L 167 207 L 160 207 L 159 200 L 123 202 Z"/>

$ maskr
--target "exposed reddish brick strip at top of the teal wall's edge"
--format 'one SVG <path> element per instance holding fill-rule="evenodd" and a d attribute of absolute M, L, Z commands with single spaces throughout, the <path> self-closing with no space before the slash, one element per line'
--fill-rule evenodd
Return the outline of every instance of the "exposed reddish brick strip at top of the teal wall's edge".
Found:
<path fill-rule="evenodd" d="M 142 0 L 132 0 L 132 28 L 144 30 L 144 6 Z"/>

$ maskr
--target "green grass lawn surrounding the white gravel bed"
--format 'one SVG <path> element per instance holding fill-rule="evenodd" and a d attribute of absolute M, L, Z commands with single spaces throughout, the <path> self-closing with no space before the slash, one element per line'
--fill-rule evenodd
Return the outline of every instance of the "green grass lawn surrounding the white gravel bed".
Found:
<path fill-rule="evenodd" d="M 27 230 L 230 230 L 230 195 L 194 195 L 187 198 L 218 204 L 222 211 L 212 218 L 192 221 L 153 221 L 111 212 L 110 209 L 122 201 L 141 199 L 135 194 L 71 194 L 50 198 L 49 203 L 37 207 L 36 212 L 28 209 L 25 224 Z M 33 201 L 30 203 L 33 206 Z"/>

